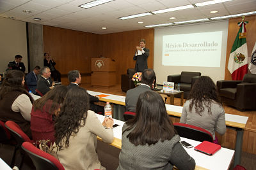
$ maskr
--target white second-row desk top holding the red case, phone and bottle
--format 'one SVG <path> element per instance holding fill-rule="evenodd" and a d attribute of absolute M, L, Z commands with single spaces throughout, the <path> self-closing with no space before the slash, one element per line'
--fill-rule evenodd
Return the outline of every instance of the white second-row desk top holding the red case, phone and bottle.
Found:
<path fill-rule="evenodd" d="M 104 120 L 104 116 L 98 115 L 100 122 Z M 124 125 L 123 121 L 114 119 L 114 124 L 118 124 L 118 127 L 113 128 L 114 132 L 114 141 L 110 145 L 115 146 L 116 148 L 120 148 L 122 146 L 122 127 Z M 181 138 L 181 141 L 186 141 L 193 146 L 199 145 L 199 141 L 194 141 L 187 138 Z M 230 162 L 232 162 L 232 158 L 234 156 L 234 150 L 229 150 L 227 148 L 221 148 L 214 155 L 209 156 L 204 153 L 200 153 L 195 151 L 193 148 L 185 148 L 186 152 L 193 157 L 196 161 L 196 169 L 228 169 L 230 166 Z M 223 159 L 225 158 L 225 159 Z M 218 163 L 217 163 L 218 162 Z"/>

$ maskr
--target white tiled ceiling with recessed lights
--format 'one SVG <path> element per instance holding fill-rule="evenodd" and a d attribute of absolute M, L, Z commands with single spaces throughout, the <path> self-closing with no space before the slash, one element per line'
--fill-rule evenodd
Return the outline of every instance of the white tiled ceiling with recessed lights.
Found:
<path fill-rule="evenodd" d="M 106 34 L 145 29 L 145 25 L 166 24 L 200 18 L 220 17 L 256 11 L 256 0 L 234 0 L 209 6 L 120 20 L 118 17 L 163 10 L 209 0 L 115 0 L 84 9 L 78 5 L 92 0 L 0 0 L 0 17 L 51 25 L 77 31 Z M 24 13 L 29 10 L 31 13 Z M 218 13 L 210 13 L 218 10 Z M 170 17 L 176 17 L 170 20 Z M 33 18 L 41 18 L 36 22 Z M 144 22 L 138 24 L 138 22 Z M 107 27 L 108 29 L 102 29 Z"/>

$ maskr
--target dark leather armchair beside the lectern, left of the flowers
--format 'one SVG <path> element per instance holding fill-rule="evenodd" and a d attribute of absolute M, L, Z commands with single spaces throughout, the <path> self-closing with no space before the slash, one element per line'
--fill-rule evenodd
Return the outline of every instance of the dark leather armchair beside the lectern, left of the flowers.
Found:
<path fill-rule="evenodd" d="M 135 87 L 132 76 L 135 74 L 134 69 L 127 69 L 127 74 L 121 75 L 121 89 L 123 92 L 127 92 L 127 90 Z"/>

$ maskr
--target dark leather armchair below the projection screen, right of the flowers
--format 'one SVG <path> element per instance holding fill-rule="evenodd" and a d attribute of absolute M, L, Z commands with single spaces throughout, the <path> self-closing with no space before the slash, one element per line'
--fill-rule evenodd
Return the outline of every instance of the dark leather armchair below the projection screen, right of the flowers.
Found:
<path fill-rule="evenodd" d="M 192 85 L 200 76 L 200 72 L 182 71 L 181 74 L 167 76 L 167 81 L 174 82 L 175 85 L 180 83 L 180 90 L 184 91 L 184 98 L 186 99 Z"/>

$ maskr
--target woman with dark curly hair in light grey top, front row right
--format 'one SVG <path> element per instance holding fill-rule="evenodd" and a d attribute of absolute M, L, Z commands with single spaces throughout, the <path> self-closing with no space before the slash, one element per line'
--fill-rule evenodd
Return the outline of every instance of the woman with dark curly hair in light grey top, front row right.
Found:
<path fill-rule="evenodd" d="M 225 110 L 209 76 L 201 76 L 194 83 L 183 106 L 180 123 L 201 127 L 211 132 L 214 140 L 215 131 L 225 134 Z"/>

